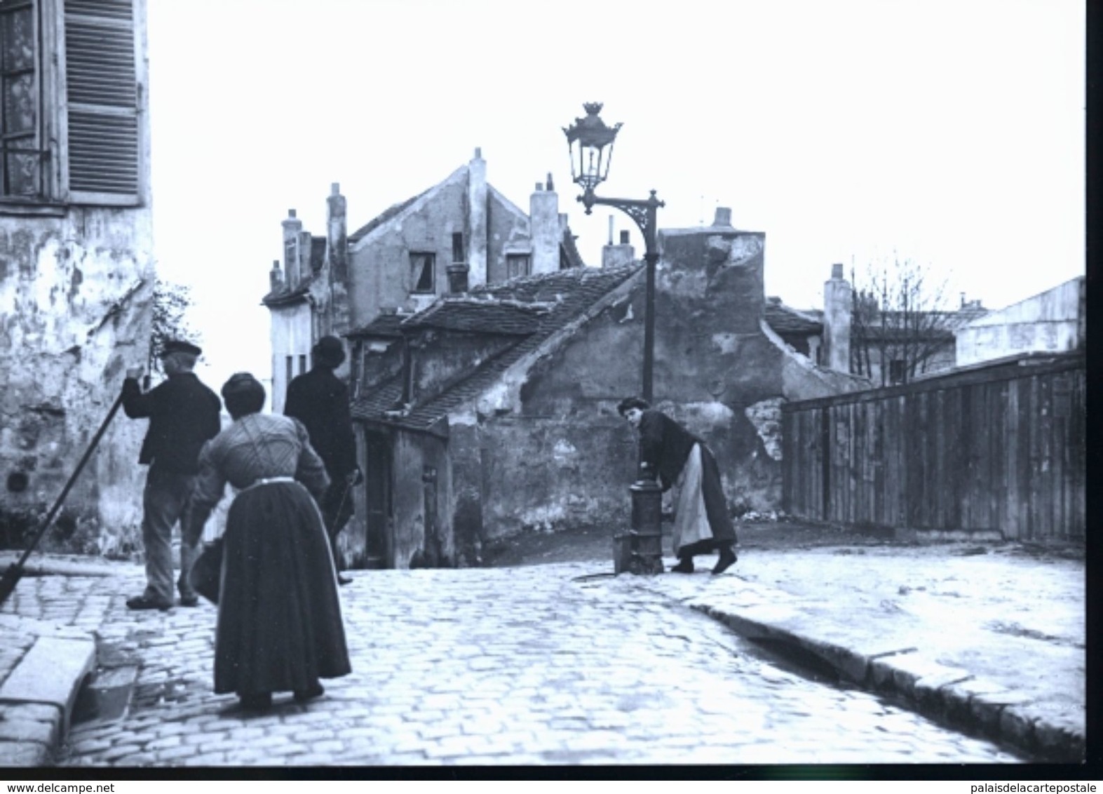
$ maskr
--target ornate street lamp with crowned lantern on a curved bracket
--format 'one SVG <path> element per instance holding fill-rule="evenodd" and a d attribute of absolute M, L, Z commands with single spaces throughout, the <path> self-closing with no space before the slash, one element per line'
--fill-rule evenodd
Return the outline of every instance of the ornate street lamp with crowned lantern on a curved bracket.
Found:
<path fill-rule="evenodd" d="M 609 127 L 601 117 L 601 103 L 585 103 L 585 118 L 576 118 L 564 127 L 570 151 L 570 175 L 582 189 L 578 201 L 589 215 L 595 204 L 620 210 L 635 221 L 643 233 L 646 262 L 646 296 L 643 318 L 643 399 L 652 401 L 652 380 L 655 362 L 655 265 L 658 262 L 656 245 L 657 211 L 665 206 L 651 191 L 647 198 L 603 198 L 593 190 L 609 176 L 613 158 L 613 143 L 621 125 Z M 577 148 L 575 144 L 578 144 Z M 631 485 L 632 529 L 628 535 L 614 536 L 615 572 L 628 569 L 633 573 L 661 573 L 663 570 L 663 492 L 654 480 L 654 472 L 643 471 L 643 461 L 636 469 L 636 481 Z"/>

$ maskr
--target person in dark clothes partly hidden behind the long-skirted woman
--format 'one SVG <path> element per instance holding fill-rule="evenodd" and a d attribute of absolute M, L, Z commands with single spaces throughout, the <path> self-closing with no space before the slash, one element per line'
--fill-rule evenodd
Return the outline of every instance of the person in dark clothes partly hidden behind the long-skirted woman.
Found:
<path fill-rule="evenodd" d="M 356 465 L 356 439 L 349 412 L 349 388 L 333 371 L 344 362 L 344 345 L 336 336 L 322 336 L 312 351 L 310 372 L 291 379 L 287 386 L 283 414 L 301 421 L 310 434 L 330 487 L 319 505 L 325 530 L 330 536 L 333 561 L 342 568 L 338 554 L 338 535 L 353 515 L 352 486 L 363 482 Z M 347 584 L 351 579 L 338 575 L 338 581 Z"/>

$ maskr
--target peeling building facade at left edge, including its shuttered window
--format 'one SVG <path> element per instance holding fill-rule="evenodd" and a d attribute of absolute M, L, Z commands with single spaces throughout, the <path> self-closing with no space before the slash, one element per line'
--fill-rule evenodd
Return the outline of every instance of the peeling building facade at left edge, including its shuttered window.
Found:
<path fill-rule="evenodd" d="M 146 0 L 0 3 L 0 544 L 26 538 L 148 360 Z M 45 548 L 138 545 L 144 427 L 116 420 Z"/>

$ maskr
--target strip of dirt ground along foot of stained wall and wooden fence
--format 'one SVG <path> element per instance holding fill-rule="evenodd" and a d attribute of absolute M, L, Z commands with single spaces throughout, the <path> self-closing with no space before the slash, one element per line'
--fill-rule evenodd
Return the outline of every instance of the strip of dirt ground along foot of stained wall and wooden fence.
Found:
<path fill-rule="evenodd" d="M 858 530 L 829 524 L 812 524 L 786 519 L 736 522 L 739 536 L 737 551 L 769 549 L 771 551 L 806 551 L 824 547 L 943 547 L 953 556 L 1007 554 L 1013 556 L 1083 559 L 1082 546 L 1072 544 L 1031 544 L 1018 541 L 924 541 L 896 539 L 890 530 Z M 583 527 L 557 533 L 529 533 L 495 540 L 483 548 L 483 565 L 491 568 L 542 565 L 546 562 L 612 564 L 612 530 L 608 527 Z M 663 523 L 663 552 L 671 554 L 671 525 Z"/>

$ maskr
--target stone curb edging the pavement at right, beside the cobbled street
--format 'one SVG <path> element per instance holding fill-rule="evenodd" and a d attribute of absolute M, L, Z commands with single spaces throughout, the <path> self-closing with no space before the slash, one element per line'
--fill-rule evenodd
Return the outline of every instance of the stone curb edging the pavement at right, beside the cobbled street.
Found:
<path fill-rule="evenodd" d="M 749 640 L 769 639 L 812 653 L 844 679 L 870 691 L 896 696 L 923 716 L 979 732 L 1038 760 L 1083 763 L 1083 732 L 1050 721 L 1039 709 L 1031 708 L 1028 696 L 975 678 L 967 670 L 941 665 L 915 647 L 893 643 L 891 637 L 881 641 L 879 648 L 877 644 L 854 648 L 814 636 L 815 630 L 807 626 L 794 630 L 785 624 L 799 610 L 783 603 L 791 599 L 786 593 L 778 594 L 783 597 L 779 599 L 782 603 L 769 608 L 717 608 L 700 600 L 688 605 Z"/>

